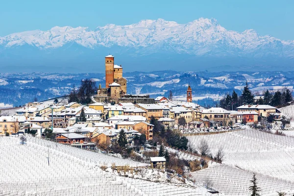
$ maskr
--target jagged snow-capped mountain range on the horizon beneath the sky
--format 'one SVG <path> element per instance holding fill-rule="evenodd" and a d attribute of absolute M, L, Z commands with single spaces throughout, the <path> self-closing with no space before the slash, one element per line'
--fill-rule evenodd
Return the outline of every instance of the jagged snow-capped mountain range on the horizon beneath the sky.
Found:
<path fill-rule="evenodd" d="M 65 58 L 73 57 L 70 54 L 72 50 L 78 50 L 72 55 L 81 58 L 85 58 L 84 53 L 93 51 L 93 54 L 110 52 L 133 57 L 160 53 L 177 55 L 174 58 L 183 54 L 189 58 L 255 58 L 263 59 L 261 62 L 265 64 L 269 63 L 265 60 L 268 57 L 271 61 L 282 59 L 287 62 L 294 57 L 293 40 L 283 41 L 270 35 L 261 36 L 253 29 L 244 32 L 227 30 L 215 19 L 204 18 L 187 24 L 163 19 L 142 20 L 137 24 L 111 24 L 95 30 L 81 26 L 55 26 L 48 31 L 32 30 L 0 37 L 0 56 L 6 59 L 2 60 L 4 64 L 7 64 L 8 59 L 23 57 L 24 49 L 33 50 L 50 59 L 55 58 L 54 50 L 58 49 L 63 52 L 67 50 L 63 53 Z M 103 57 L 102 55 L 101 58 Z M 220 65 L 223 64 L 218 64 Z"/>

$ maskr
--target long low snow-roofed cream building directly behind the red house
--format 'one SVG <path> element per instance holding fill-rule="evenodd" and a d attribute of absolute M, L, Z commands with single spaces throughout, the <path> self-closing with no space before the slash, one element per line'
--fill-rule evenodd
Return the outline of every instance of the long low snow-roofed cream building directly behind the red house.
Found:
<path fill-rule="evenodd" d="M 254 111 L 258 113 L 260 117 L 269 117 L 270 113 L 278 112 L 276 107 L 270 105 L 241 105 L 236 108 L 238 112 Z"/>

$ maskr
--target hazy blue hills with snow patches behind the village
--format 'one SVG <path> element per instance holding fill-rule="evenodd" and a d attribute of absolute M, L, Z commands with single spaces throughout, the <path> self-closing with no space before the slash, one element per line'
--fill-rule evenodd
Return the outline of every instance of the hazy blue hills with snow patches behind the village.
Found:
<path fill-rule="evenodd" d="M 235 90 L 241 95 L 247 81 L 254 94 L 265 90 L 293 90 L 294 72 L 132 72 L 124 73 L 128 94 L 149 94 L 150 97 L 166 96 L 172 90 L 177 99 L 185 99 L 188 84 L 193 89 L 195 101 L 212 104 L 226 93 Z M 92 78 L 102 87 L 105 85 L 104 73 L 1 73 L 0 103 L 21 105 L 33 98 L 48 98 L 68 95 L 73 85 L 79 86 L 81 79 Z M 203 99 L 206 100 L 198 100 Z M 209 100 L 209 102 L 207 102 Z M 203 102 L 204 101 L 204 102 Z"/>

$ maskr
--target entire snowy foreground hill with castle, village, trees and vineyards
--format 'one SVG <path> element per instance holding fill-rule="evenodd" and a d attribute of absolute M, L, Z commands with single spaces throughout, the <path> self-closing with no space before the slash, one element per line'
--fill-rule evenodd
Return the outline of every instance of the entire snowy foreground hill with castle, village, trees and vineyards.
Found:
<path fill-rule="evenodd" d="M 172 92 L 168 98 L 130 95 L 122 65 L 107 55 L 105 87 L 99 85 L 95 93 L 83 89 L 82 99 L 74 91 L 1 111 L 0 155 L 5 164 L 22 161 L 26 172 L 32 172 L 28 167 L 33 163 L 35 177 L 21 174 L 17 185 L 22 186 L 4 186 L 0 195 L 166 196 L 169 191 L 245 196 L 255 173 L 264 195 L 294 194 L 294 116 L 288 89 L 254 97 L 246 84 L 241 96 L 227 94 L 210 108 L 194 102 L 190 84 L 185 101 L 174 99 Z M 11 158 L 14 153 L 17 158 Z M 274 157 L 285 160 L 282 166 Z M 5 171 L 0 184 L 13 181 L 21 169 Z"/>

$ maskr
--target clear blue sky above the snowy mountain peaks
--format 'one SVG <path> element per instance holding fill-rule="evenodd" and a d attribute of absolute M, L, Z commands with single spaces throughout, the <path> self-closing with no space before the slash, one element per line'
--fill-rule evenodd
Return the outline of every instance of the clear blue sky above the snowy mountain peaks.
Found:
<path fill-rule="evenodd" d="M 294 40 L 293 0 L 1 0 L 0 36 L 53 26 L 129 25 L 163 18 L 188 23 L 215 18 L 229 30 Z"/>

